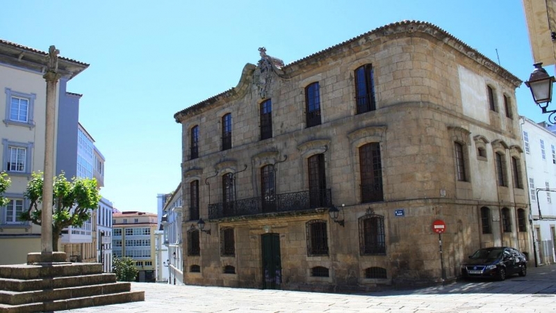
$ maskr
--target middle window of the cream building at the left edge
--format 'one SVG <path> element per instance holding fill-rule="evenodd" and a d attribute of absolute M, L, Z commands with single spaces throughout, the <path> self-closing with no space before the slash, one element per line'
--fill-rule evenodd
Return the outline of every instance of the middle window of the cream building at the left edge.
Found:
<path fill-rule="evenodd" d="M 16 143 L 2 139 L 3 170 L 13 174 L 31 174 L 31 150 L 33 143 Z"/>

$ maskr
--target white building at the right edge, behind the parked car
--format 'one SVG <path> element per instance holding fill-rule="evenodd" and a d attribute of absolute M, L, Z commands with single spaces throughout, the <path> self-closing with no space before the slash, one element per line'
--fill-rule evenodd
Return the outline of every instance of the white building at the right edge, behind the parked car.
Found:
<path fill-rule="evenodd" d="M 521 116 L 537 264 L 556 263 L 556 134 Z"/>

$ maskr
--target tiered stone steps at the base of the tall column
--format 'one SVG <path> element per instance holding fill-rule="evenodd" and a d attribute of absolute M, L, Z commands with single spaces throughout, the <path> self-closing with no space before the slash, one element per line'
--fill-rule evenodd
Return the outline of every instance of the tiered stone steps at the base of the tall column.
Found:
<path fill-rule="evenodd" d="M 49 312 L 145 300 L 97 263 L 0 266 L 0 313 Z"/>

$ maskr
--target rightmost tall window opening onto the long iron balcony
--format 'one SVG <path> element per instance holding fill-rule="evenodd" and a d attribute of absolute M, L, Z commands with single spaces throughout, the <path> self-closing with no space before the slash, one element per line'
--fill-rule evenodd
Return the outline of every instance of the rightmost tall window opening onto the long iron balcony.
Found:
<path fill-rule="evenodd" d="M 327 204 L 325 155 L 315 154 L 309 163 L 309 204 L 311 208 Z"/>

